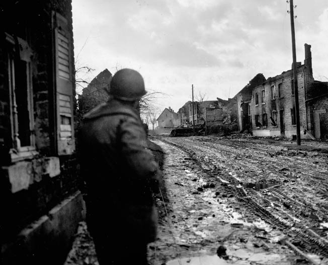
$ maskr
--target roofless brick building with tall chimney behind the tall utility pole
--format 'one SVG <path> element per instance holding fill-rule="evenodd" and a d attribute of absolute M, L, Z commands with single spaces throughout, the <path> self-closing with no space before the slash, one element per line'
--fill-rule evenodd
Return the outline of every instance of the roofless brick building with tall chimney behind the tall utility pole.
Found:
<path fill-rule="evenodd" d="M 328 82 L 315 81 L 311 45 L 305 44 L 304 64 L 297 62 L 297 83 L 302 138 L 328 138 Z M 296 137 L 293 71 L 269 77 L 255 87 L 250 103 L 253 135 Z"/>

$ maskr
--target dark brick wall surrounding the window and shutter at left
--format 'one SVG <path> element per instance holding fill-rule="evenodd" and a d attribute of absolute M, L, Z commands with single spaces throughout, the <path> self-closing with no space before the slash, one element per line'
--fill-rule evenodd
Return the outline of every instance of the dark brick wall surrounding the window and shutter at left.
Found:
<path fill-rule="evenodd" d="M 0 4 L 0 22 L 4 30 L 0 32 L 0 200 L 2 202 L 0 238 L 2 243 L 14 240 L 21 229 L 48 213 L 52 207 L 79 188 L 75 155 L 62 157 L 56 155 L 53 11 L 68 20 L 72 42 L 70 0 L 34 0 L 27 4 L 7 1 Z M 4 23 L 5 20 L 7 23 Z M 8 58 L 4 49 L 6 45 L 4 32 L 19 36 L 22 29 L 20 25 L 25 25 L 24 23 L 27 23 L 26 28 L 30 33 L 29 44 L 33 50 L 31 61 L 33 116 L 38 154 L 12 162 L 8 155 L 13 140 L 9 118 Z M 74 69 L 73 60 L 71 67 Z M 74 94 L 75 87 L 73 87 Z"/>

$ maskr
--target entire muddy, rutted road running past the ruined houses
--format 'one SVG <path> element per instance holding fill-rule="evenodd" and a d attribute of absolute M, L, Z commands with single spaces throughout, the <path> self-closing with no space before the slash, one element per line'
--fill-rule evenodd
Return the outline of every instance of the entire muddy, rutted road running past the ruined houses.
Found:
<path fill-rule="evenodd" d="M 326 149 L 268 139 L 153 140 L 166 153 L 168 197 L 157 199 L 154 264 L 327 263 Z M 226 249 L 220 260 L 218 248 Z"/>

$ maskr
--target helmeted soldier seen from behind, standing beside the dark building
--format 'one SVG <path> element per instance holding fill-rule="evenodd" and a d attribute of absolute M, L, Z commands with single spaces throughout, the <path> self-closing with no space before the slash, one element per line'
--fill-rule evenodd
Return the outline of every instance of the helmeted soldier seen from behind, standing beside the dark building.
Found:
<path fill-rule="evenodd" d="M 86 183 L 88 230 L 100 265 L 148 264 L 155 240 L 157 163 L 146 148 L 136 107 L 146 94 L 140 73 L 117 71 L 110 100 L 85 115 L 79 132 L 80 167 Z"/>

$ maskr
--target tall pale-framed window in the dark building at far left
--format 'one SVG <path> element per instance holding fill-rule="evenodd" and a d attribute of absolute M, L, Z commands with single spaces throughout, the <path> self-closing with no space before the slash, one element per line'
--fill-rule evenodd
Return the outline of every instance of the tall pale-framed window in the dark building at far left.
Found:
<path fill-rule="evenodd" d="M 31 71 L 33 52 L 29 44 L 19 37 L 6 34 L 6 40 L 13 141 L 10 153 L 14 162 L 21 157 L 31 155 L 31 151 L 35 150 Z"/>

